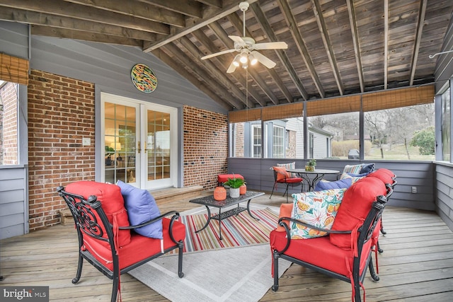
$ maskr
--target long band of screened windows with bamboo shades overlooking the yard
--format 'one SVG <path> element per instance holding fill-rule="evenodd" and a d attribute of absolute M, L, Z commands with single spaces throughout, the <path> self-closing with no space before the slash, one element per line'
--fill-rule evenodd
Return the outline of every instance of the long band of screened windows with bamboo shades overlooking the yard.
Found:
<path fill-rule="evenodd" d="M 430 161 L 435 157 L 434 95 L 434 86 L 424 85 L 229 112 L 231 154 Z M 449 115 L 450 103 L 442 106 Z M 450 148 L 446 123 L 443 139 Z M 262 141 L 248 124 L 262 125 Z M 246 146 L 242 153 L 236 148 L 241 144 Z M 444 152 L 449 157 L 450 150 Z"/>

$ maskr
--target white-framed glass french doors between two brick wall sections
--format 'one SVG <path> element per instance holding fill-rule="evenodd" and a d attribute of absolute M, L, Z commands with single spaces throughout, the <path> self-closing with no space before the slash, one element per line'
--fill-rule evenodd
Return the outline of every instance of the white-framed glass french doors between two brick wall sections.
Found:
<path fill-rule="evenodd" d="M 176 187 L 177 109 L 101 93 L 101 178 L 155 190 Z"/>

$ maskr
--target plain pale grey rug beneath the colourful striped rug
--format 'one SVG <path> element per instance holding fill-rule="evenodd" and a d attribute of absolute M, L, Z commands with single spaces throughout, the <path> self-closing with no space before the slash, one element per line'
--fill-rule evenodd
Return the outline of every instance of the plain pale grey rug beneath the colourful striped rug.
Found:
<path fill-rule="evenodd" d="M 200 214 L 200 211 L 183 214 Z M 185 253 L 183 278 L 178 278 L 176 255 L 159 257 L 129 274 L 173 302 L 253 302 L 259 301 L 273 285 L 271 265 L 270 245 L 264 243 Z M 279 261 L 280 276 L 289 265 L 286 260 Z"/>

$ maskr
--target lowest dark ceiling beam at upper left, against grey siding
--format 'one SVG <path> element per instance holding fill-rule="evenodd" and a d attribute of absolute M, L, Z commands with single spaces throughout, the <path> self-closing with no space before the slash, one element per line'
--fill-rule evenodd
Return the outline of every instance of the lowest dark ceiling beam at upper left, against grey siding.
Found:
<path fill-rule="evenodd" d="M 100 33 L 86 33 L 79 30 L 68 30 L 64 28 L 51 28 L 50 26 L 33 25 L 32 35 L 45 35 L 47 37 L 64 37 L 67 39 L 84 40 L 92 42 L 102 42 L 118 45 L 129 45 L 142 47 L 140 40 L 129 39 L 127 37 L 115 37 L 113 35 L 103 35 Z"/>

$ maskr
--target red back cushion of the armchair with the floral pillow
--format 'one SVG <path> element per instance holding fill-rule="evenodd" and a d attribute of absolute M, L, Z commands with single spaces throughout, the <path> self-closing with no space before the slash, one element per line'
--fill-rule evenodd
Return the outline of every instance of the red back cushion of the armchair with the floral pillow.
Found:
<path fill-rule="evenodd" d="M 386 194 L 384 182 L 378 178 L 362 178 L 346 190 L 338 209 L 332 230 L 351 231 L 365 221 L 376 197 Z M 339 248 L 351 248 L 351 234 L 333 234 L 331 243 Z"/>

